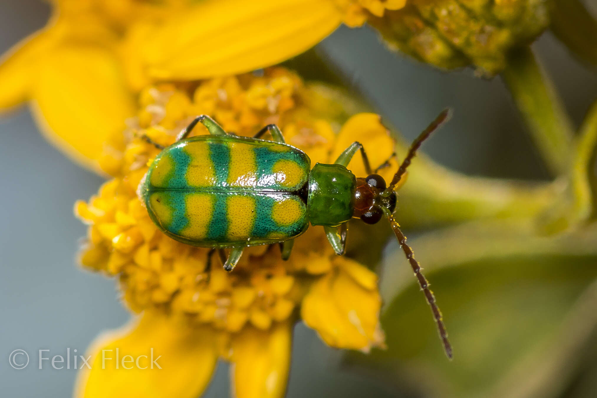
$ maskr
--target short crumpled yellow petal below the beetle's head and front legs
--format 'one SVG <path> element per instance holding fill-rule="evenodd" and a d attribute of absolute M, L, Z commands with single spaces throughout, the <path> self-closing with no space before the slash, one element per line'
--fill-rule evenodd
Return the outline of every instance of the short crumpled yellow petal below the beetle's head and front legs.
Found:
<path fill-rule="evenodd" d="M 381 298 L 377 289 L 367 286 L 371 282 L 368 275 L 371 271 L 353 261 L 346 266 L 349 272 L 341 264 L 336 272 L 312 286 L 303 299 L 303 321 L 333 347 L 365 352 L 372 347 L 384 347 L 385 338 L 379 323 Z M 358 267 L 362 270 L 356 270 Z M 365 286 L 360 283 L 361 279 Z"/>

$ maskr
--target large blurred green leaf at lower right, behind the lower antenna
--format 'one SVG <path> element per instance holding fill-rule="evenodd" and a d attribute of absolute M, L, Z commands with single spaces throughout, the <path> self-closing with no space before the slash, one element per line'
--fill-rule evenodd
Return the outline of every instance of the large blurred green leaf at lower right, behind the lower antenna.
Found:
<path fill-rule="evenodd" d="M 529 220 L 479 221 L 413 239 L 409 244 L 443 311 L 454 360 L 442 353 L 429 308 L 404 254 L 396 251 L 385 262 L 381 286 L 388 348 L 370 356 L 351 353 L 346 363 L 376 369 L 386 380 L 407 380 L 433 397 L 534 397 L 547 382 L 562 387 L 570 372 L 554 372 L 565 364 L 554 363 L 553 354 L 576 358 L 587 330 L 597 325 L 597 287 L 590 316 L 578 310 L 586 302 L 579 297 L 597 277 L 595 242 L 595 224 L 540 236 Z M 562 337 L 566 332 L 574 344 Z"/>

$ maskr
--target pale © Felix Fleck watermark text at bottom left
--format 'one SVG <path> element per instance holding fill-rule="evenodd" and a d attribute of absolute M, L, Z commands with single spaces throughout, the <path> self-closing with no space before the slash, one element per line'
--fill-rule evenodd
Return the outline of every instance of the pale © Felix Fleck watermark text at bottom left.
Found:
<path fill-rule="evenodd" d="M 162 369 L 158 360 L 161 355 L 156 356 L 153 348 L 148 349 L 147 355 L 128 355 L 121 352 L 119 348 L 114 350 L 101 350 L 101 369 Z M 52 355 L 50 350 L 37 351 L 38 369 L 91 369 L 100 363 L 91 362 L 91 355 L 84 356 L 77 354 L 76 348 L 66 348 L 66 355 Z M 14 369 L 24 369 L 29 365 L 29 353 L 20 348 L 14 350 L 8 356 L 8 363 Z"/>

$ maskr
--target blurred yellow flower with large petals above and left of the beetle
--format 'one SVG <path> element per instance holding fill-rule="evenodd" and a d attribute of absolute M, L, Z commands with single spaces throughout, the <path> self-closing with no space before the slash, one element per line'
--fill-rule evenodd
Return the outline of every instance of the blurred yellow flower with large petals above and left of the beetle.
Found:
<path fill-rule="evenodd" d="M 97 168 L 107 137 L 134 114 L 141 88 L 270 66 L 312 47 L 343 20 L 359 26 L 365 10 L 381 15 L 404 2 L 54 0 L 48 25 L 2 58 L 0 111 L 30 101 L 45 135 Z"/>

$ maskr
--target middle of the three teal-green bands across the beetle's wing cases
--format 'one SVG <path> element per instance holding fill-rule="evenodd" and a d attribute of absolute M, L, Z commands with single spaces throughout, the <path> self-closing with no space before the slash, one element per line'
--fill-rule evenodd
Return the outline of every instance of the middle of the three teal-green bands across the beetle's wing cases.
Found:
<path fill-rule="evenodd" d="M 216 180 L 226 183 L 228 180 L 228 169 L 230 165 L 230 149 L 227 143 L 211 143 L 210 159 L 216 171 Z M 210 226 L 207 237 L 210 240 L 223 241 L 228 232 L 228 217 L 226 195 L 216 195 L 213 214 L 211 215 Z"/>

